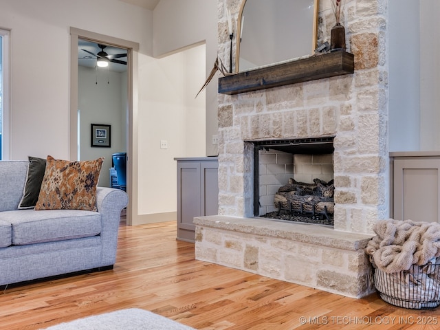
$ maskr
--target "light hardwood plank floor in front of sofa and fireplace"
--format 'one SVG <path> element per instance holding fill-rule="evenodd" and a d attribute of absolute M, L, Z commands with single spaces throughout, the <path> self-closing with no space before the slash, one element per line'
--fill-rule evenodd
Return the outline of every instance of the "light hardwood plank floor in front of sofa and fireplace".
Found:
<path fill-rule="evenodd" d="M 351 299 L 197 261 L 194 245 L 175 234 L 174 222 L 122 223 L 113 270 L 9 287 L 0 294 L 0 329 L 129 307 L 204 330 L 440 328 L 440 307 L 402 309 L 376 294 Z"/>

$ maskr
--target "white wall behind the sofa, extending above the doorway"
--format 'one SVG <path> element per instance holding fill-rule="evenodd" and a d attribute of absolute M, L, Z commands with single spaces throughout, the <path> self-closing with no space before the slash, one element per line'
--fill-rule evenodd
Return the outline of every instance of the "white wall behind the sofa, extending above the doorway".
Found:
<path fill-rule="evenodd" d="M 134 41 L 152 54 L 153 14 L 118 0 L 0 0 L 0 8 L 1 25 L 11 30 L 10 158 L 67 159 L 69 28 Z"/>

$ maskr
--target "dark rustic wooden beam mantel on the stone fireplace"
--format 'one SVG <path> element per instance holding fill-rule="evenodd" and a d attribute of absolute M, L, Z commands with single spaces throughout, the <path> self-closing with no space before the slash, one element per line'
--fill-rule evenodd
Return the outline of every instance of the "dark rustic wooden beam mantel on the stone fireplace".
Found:
<path fill-rule="evenodd" d="M 337 50 L 219 78 L 220 94 L 239 94 L 354 73 L 354 55 Z"/>

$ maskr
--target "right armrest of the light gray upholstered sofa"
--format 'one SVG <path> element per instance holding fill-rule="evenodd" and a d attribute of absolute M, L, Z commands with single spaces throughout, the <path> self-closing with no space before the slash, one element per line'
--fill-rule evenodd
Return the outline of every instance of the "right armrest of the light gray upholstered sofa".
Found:
<path fill-rule="evenodd" d="M 96 207 L 101 214 L 102 267 L 115 263 L 121 211 L 128 203 L 124 190 L 96 188 Z"/>

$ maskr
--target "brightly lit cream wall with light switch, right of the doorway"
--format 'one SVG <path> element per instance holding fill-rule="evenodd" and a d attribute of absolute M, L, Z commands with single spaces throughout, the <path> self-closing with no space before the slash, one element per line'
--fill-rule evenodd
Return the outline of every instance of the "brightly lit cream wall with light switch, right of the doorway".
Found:
<path fill-rule="evenodd" d="M 140 68 L 138 217 L 140 223 L 171 221 L 177 210 L 175 157 L 200 157 L 205 151 L 205 46 L 148 58 Z M 161 148 L 166 140 L 168 148 Z M 133 223 L 139 224 L 139 223 Z"/>

